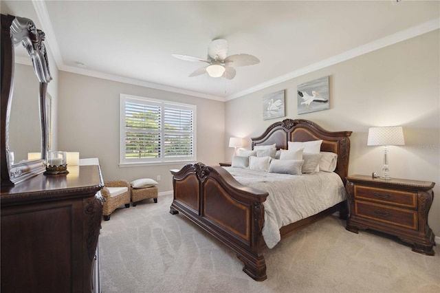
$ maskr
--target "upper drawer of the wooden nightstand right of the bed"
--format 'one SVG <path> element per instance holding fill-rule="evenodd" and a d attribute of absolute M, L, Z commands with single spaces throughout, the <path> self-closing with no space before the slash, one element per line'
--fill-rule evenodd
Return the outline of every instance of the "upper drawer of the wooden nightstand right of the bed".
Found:
<path fill-rule="evenodd" d="M 355 199 L 369 199 L 374 202 L 393 204 L 404 208 L 417 208 L 417 193 L 396 191 L 386 188 L 355 186 Z"/>

